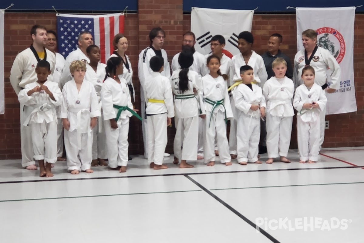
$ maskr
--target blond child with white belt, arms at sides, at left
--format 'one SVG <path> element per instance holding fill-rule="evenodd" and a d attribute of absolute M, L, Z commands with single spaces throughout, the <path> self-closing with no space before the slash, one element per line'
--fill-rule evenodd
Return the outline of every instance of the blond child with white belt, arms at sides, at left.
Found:
<path fill-rule="evenodd" d="M 84 79 L 86 64 L 73 61 L 72 79 L 63 86 L 60 115 L 64 127 L 64 146 L 71 174 L 92 173 L 92 129 L 101 115 L 98 98 L 92 83 Z"/>

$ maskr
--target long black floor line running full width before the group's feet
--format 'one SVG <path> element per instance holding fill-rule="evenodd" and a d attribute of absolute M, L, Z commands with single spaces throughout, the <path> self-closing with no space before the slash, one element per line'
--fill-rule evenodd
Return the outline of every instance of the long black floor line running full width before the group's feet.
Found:
<path fill-rule="evenodd" d="M 347 168 L 363 168 L 364 169 L 364 165 L 363 166 L 314 167 L 314 168 L 263 169 L 263 170 L 250 170 L 250 171 L 195 172 L 195 173 L 175 173 L 175 174 L 136 175 L 136 176 L 107 176 L 107 177 L 92 177 L 92 178 L 63 178 L 63 179 L 43 179 L 43 180 L 24 180 L 24 181 L 0 181 L 0 184 L 43 182 L 43 181 L 99 180 L 99 179 L 138 178 L 138 177 L 155 177 L 155 176 L 209 175 L 209 174 L 225 174 L 225 173 L 266 172 L 266 171 L 298 171 L 298 170 L 313 170 L 313 169 L 347 169 Z"/>

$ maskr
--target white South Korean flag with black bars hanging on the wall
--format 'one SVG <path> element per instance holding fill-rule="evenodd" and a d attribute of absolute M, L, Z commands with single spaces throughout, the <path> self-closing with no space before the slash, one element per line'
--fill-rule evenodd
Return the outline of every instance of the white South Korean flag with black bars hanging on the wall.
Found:
<path fill-rule="evenodd" d="M 254 10 L 229 10 L 192 8 L 191 31 L 196 35 L 195 49 L 203 55 L 211 52 L 210 42 L 214 35 L 225 38 L 225 55 L 232 58 L 239 52 L 238 35 L 252 31 Z"/>

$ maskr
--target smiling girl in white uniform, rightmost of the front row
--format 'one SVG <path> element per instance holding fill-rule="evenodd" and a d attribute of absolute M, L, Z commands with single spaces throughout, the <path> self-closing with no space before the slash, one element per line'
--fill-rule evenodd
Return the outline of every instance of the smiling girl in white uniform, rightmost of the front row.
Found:
<path fill-rule="evenodd" d="M 320 148 L 320 113 L 327 98 L 320 85 L 314 83 L 315 70 L 311 66 L 302 69 L 304 83 L 294 93 L 293 106 L 297 110 L 297 141 L 300 163 L 318 160 Z"/>

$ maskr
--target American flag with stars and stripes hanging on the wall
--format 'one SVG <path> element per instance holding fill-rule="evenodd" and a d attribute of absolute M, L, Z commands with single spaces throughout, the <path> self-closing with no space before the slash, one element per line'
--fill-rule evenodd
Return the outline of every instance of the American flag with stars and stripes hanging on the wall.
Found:
<path fill-rule="evenodd" d="M 57 16 L 58 52 L 67 57 L 78 47 L 78 35 L 88 31 L 94 38 L 94 44 L 100 47 L 101 63 L 114 51 L 112 39 L 118 33 L 124 33 L 124 13 L 106 15 L 73 15 Z"/>

